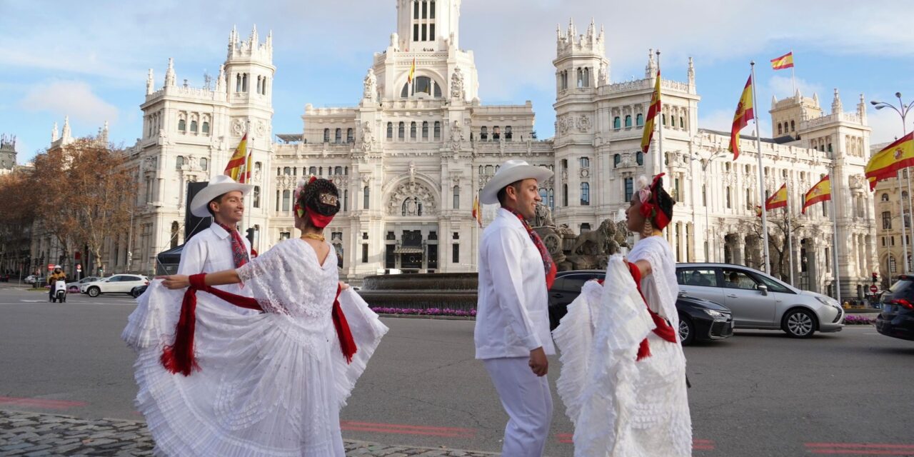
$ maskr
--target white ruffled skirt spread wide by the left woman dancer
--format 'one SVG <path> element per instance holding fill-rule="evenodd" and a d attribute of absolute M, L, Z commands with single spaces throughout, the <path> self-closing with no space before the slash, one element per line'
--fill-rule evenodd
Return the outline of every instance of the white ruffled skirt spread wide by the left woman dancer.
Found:
<path fill-rule="evenodd" d="M 136 407 L 156 452 L 169 456 L 344 457 L 339 410 L 388 328 L 356 292 L 340 304 L 358 350 L 345 363 L 332 321 L 304 328 L 282 314 L 239 315 L 197 293 L 194 339 L 201 368 L 173 375 L 171 344 L 184 291 L 159 282 L 138 300 L 122 338 L 137 351 Z"/>

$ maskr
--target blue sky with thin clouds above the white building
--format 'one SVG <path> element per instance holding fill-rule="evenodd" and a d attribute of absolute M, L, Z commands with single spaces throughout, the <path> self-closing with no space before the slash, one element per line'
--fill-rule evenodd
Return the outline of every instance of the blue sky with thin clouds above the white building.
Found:
<path fill-rule="evenodd" d="M 169 57 L 178 81 L 203 84 L 218 73 L 233 25 L 261 40 L 272 30 L 274 133 L 301 132 L 305 103 L 351 105 L 374 52 L 396 27 L 394 0 L 245 2 L 165 0 L 0 0 L 0 133 L 18 137 L 19 162 L 48 146 L 54 122 L 69 114 L 76 136 L 111 123 L 116 143 L 141 134 L 146 72 L 161 86 Z M 539 138 L 553 134 L 557 23 L 591 17 L 606 28 L 611 80 L 642 78 L 648 48 L 663 51 L 665 78 L 685 80 L 695 58 L 702 96 L 699 126 L 728 130 L 755 59 L 762 133 L 771 134 L 771 95 L 790 95 L 790 71 L 768 60 L 793 50 L 804 95 L 829 111 L 838 88 L 845 111 L 859 94 L 914 99 L 914 3 L 904 1 L 463 0 L 461 48 L 472 49 L 484 103 L 533 101 Z M 900 133 L 894 112 L 868 112 L 872 143 Z M 909 118 L 909 130 L 914 125 Z"/>

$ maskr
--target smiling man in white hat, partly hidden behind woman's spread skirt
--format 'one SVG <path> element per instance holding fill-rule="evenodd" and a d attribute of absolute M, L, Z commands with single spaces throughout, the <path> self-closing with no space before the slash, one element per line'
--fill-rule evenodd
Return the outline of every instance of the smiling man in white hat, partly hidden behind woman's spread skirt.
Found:
<path fill-rule="evenodd" d="M 209 228 L 186 241 L 181 250 L 177 274 L 212 273 L 239 268 L 250 261 L 250 241 L 239 234 L 238 223 L 244 218 L 244 196 L 253 186 L 239 184 L 227 175 L 217 175 L 206 187 L 197 192 L 190 202 L 190 213 L 197 218 L 213 218 Z M 250 296 L 242 285 L 216 286 L 226 292 Z M 213 295 L 198 299 L 200 305 L 214 306 L 230 313 L 256 314 L 256 311 L 239 308 L 223 302 Z"/>

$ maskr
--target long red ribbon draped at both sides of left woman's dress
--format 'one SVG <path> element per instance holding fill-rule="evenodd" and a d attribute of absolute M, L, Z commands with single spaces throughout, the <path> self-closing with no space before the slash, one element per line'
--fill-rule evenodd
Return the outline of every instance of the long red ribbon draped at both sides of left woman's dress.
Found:
<path fill-rule="evenodd" d="M 200 369 L 197 364 L 197 357 L 194 356 L 194 332 L 197 328 L 197 291 L 211 293 L 240 308 L 263 311 L 256 299 L 207 286 L 206 282 L 204 282 L 206 275 L 206 273 L 192 274 L 188 278 L 190 287 L 184 292 L 184 300 L 181 301 L 181 315 L 175 325 L 175 343 L 166 345 L 162 350 L 162 356 L 159 360 L 162 362 L 162 366 L 172 374 L 181 373 L 184 376 L 190 376 L 192 371 Z M 334 327 L 336 335 L 339 337 L 340 347 L 343 350 L 346 363 L 351 363 L 352 356 L 356 354 L 357 348 L 352 332 L 349 330 L 349 324 L 345 320 L 343 309 L 340 307 L 340 292 L 342 292 L 342 287 L 337 285 L 332 313 Z"/>

